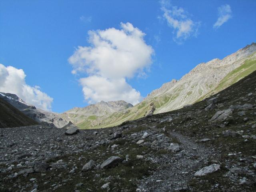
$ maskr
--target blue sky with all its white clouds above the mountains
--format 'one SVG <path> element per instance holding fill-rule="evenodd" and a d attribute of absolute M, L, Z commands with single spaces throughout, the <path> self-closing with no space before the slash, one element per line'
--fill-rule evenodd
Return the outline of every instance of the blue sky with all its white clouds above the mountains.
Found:
<path fill-rule="evenodd" d="M 255 9 L 255 0 L 0 0 L 0 81 L 13 77 L 0 91 L 54 112 L 136 103 L 255 42 Z"/>

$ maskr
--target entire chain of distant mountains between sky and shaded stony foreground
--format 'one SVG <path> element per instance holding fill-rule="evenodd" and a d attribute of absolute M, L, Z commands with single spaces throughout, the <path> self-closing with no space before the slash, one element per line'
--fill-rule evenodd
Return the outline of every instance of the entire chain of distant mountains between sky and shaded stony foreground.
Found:
<path fill-rule="evenodd" d="M 252 43 L 222 60 L 198 64 L 180 80 L 164 83 L 135 106 L 125 101 L 101 101 L 58 114 L 37 109 L 15 94 L 0 93 L 0 98 L 36 122 L 52 123 L 60 128 L 71 121 L 82 129 L 103 128 L 193 104 L 224 90 L 255 70 L 256 43 Z"/>

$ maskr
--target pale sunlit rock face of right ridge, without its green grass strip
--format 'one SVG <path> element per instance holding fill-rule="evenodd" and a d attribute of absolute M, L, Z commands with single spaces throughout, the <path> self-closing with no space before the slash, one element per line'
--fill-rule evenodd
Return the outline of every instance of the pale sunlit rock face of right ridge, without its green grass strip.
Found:
<path fill-rule="evenodd" d="M 209 94 L 211 90 L 216 88 L 218 83 L 226 77 L 230 72 L 245 64 L 247 60 L 256 60 L 256 44 L 246 46 L 237 52 L 220 60 L 213 59 L 206 63 L 201 63 L 192 69 L 188 74 L 184 75 L 180 80 L 172 80 L 167 84 L 163 84 L 158 90 L 154 90 L 145 99 L 145 102 L 160 103 L 156 105 L 156 113 L 167 112 L 181 108 L 187 104 L 192 104 L 202 96 Z M 252 67 L 254 65 L 254 67 Z M 255 68 L 255 64 L 251 64 L 250 68 Z M 244 69 L 240 69 L 240 72 Z M 251 72 L 253 69 L 251 69 Z M 240 79 L 248 74 L 240 76 Z M 239 80 L 232 82 L 231 84 Z M 229 85 L 231 85 L 229 84 Z M 229 86 L 228 85 L 228 86 Z M 222 89 L 226 88 L 224 86 Z M 220 91 L 218 90 L 218 91 Z M 213 91 L 213 93 L 216 91 Z"/>

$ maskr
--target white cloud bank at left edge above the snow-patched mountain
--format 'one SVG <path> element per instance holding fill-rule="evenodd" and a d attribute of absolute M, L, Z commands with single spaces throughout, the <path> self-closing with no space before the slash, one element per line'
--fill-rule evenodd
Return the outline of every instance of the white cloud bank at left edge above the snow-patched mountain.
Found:
<path fill-rule="evenodd" d="M 13 93 L 43 110 L 51 110 L 53 99 L 40 90 L 39 86 L 29 86 L 22 69 L 0 64 L 0 92 Z"/>

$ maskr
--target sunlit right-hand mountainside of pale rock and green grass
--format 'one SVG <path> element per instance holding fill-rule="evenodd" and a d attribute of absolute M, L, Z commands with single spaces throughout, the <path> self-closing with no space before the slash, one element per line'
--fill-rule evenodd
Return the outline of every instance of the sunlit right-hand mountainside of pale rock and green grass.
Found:
<path fill-rule="evenodd" d="M 102 116 L 98 124 L 91 125 L 86 121 L 79 124 L 79 127 L 111 127 L 148 114 L 182 108 L 227 88 L 254 70 L 256 70 L 256 44 L 252 43 L 222 60 L 213 59 L 199 64 L 180 80 L 172 80 L 153 90 L 142 102 L 132 108 L 114 112 L 111 116 Z"/>

